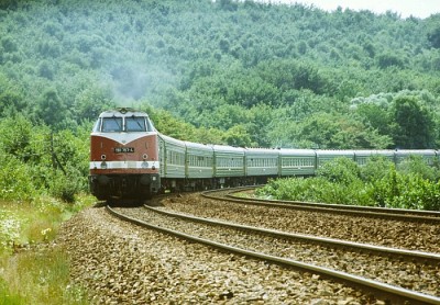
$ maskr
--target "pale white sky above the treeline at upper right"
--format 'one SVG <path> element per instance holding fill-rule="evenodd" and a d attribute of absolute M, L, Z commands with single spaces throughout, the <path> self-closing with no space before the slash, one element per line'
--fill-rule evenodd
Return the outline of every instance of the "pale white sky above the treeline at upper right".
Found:
<path fill-rule="evenodd" d="M 440 0 L 266 0 L 264 2 L 298 2 L 308 5 L 314 4 L 326 11 L 334 11 L 338 7 L 341 7 L 342 10 L 370 10 L 375 13 L 392 11 L 398 13 L 402 18 L 413 15 L 425 19 L 431 14 L 440 13 Z"/>

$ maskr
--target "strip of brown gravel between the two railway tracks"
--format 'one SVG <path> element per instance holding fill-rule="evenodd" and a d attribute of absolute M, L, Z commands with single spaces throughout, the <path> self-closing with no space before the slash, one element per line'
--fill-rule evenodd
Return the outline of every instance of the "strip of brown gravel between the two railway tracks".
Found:
<path fill-rule="evenodd" d="M 162 204 L 170 211 L 200 217 L 287 233 L 440 253 L 440 226 L 437 224 L 237 204 L 204 199 L 197 193 L 168 197 L 162 200 Z"/>

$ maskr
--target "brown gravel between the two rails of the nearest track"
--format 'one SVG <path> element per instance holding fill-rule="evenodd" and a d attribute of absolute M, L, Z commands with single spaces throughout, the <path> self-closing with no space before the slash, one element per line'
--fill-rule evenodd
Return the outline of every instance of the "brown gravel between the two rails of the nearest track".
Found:
<path fill-rule="evenodd" d="M 440 295 L 440 266 L 438 261 L 428 263 L 424 259 L 405 260 L 398 255 L 376 256 L 376 253 L 365 252 L 364 250 L 353 251 L 304 240 L 266 236 L 248 230 L 169 217 L 143 207 L 117 208 L 117 211 L 152 225 L 241 249 L 326 267 L 430 295 Z M 243 215 L 242 217 L 245 218 L 246 216 Z M 261 225 L 265 224 L 262 223 Z"/>

